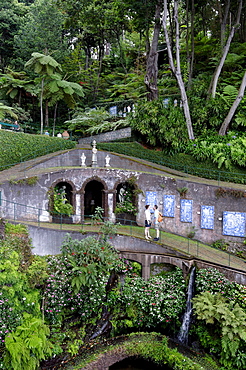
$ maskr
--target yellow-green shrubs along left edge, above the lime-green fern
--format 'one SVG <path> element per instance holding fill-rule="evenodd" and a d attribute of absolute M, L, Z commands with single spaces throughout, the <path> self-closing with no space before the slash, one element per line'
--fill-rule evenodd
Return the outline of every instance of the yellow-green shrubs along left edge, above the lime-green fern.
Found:
<path fill-rule="evenodd" d="M 6 224 L 8 225 L 8 224 Z M 7 226 L 8 228 L 9 226 Z M 11 230 L 10 230 L 11 229 Z M 12 233 L 19 235 L 13 237 Z M 26 228 L 24 227 L 24 236 Z M 30 266 L 30 254 L 23 241 L 23 228 L 10 227 L 7 236 L 0 241 L 0 345 L 5 345 L 6 336 L 20 325 L 24 312 L 40 316 L 39 292 L 29 285 L 26 270 Z"/>

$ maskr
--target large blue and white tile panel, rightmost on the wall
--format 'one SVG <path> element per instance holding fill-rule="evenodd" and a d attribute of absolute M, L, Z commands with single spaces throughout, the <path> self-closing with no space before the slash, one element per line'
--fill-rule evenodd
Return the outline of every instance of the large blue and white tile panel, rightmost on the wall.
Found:
<path fill-rule="evenodd" d="M 223 212 L 223 235 L 245 236 L 246 213 Z"/>

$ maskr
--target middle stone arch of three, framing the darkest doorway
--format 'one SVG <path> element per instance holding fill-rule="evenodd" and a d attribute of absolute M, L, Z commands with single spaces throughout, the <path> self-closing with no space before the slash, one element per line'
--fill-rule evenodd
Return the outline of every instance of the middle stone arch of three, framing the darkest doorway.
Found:
<path fill-rule="evenodd" d="M 81 219 L 91 216 L 96 207 L 104 209 L 104 217 L 108 217 L 108 186 L 98 176 L 92 176 L 83 183 L 81 190 Z"/>

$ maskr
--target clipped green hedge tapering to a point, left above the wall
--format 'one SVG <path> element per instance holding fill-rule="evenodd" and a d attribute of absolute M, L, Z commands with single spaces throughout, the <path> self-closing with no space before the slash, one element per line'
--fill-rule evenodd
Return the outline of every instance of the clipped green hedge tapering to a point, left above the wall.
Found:
<path fill-rule="evenodd" d="M 1 155 L 0 170 L 11 165 L 36 158 L 58 150 L 74 148 L 70 140 L 47 137 L 45 135 L 29 135 L 0 130 Z"/>

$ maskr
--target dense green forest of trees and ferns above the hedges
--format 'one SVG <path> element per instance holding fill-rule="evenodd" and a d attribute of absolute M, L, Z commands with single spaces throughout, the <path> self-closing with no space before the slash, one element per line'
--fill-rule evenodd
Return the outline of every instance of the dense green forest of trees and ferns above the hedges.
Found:
<path fill-rule="evenodd" d="M 132 125 L 173 150 L 209 130 L 244 131 L 244 2 L 175 0 L 160 22 L 166 6 L 1 0 L 0 117 L 56 134 L 88 107 L 117 106 L 122 120 L 134 104 Z"/>

